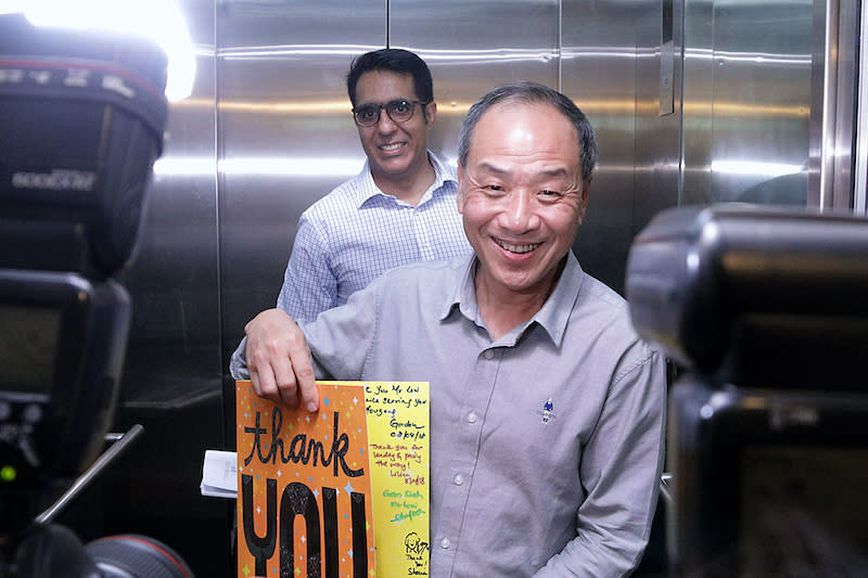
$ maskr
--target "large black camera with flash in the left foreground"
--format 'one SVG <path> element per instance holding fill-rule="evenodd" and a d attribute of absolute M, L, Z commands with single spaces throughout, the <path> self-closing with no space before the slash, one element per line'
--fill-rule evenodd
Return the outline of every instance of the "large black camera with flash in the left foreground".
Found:
<path fill-rule="evenodd" d="M 59 512 L 138 438 L 105 445 L 130 260 L 167 118 L 166 55 L 0 14 L 0 577 L 192 577 L 144 536 L 85 545 Z"/>

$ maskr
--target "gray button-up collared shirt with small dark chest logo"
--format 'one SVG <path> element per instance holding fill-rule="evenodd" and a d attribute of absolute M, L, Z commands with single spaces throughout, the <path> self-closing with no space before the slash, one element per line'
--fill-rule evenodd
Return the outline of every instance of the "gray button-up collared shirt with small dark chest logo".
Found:
<path fill-rule="evenodd" d="M 656 505 L 664 360 L 572 253 L 493 342 L 474 262 L 395 269 L 304 324 L 318 376 L 430 382 L 432 577 L 629 574 Z"/>

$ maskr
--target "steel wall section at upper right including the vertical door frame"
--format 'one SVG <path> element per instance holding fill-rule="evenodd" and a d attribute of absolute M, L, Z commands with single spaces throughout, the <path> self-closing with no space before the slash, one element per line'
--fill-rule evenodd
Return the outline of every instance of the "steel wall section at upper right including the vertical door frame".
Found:
<path fill-rule="evenodd" d="M 856 0 L 687 0 L 682 203 L 853 206 Z"/>

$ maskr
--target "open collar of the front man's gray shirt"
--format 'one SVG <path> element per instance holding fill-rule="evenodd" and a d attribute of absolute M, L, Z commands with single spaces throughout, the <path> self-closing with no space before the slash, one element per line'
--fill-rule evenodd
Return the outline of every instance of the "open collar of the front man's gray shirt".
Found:
<path fill-rule="evenodd" d="M 445 321 L 454 311 L 458 310 L 468 320 L 480 326 L 484 326 L 482 317 L 480 316 L 480 306 L 476 303 L 476 290 L 474 284 L 477 262 L 478 260 L 475 254 L 471 254 L 471 256 L 467 258 L 464 267 L 459 269 L 461 273 L 456 280 L 455 288 L 441 310 L 441 321 Z M 537 311 L 529 321 L 509 332 L 501 337 L 501 339 L 510 339 L 512 344 L 514 344 L 528 327 L 537 324 L 548 333 L 552 343 L 560 347 L 566 331 L 566 323 L 578 299 L 578 293 L 584 280 L 585 271 L 582 270 L 582 266 L 578 265 L 578 259 L 576 259 L 573 252 L 570 251 L 566 255 L 566 264 L 564 265 L 563 271 L 561 271 L 561 277 L 558 279 L 558 284 L 554 285 L 554 291 L 549 295 L 549 298 L 546 299 L 546 303 L 539 311 Z"/>

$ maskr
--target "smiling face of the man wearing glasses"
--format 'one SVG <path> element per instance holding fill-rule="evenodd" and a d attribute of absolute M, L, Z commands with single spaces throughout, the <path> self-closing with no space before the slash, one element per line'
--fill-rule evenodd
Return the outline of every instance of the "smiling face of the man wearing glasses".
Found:
<path fill-rule="evenodd" d="M 356 84 L 356 108 L 398 99 L 419 100 L 409 74 L 371 70 L 361 75 Z M 434 120 L 436 105 L 413 106 L 413 116 L 405 123 L 395 123 L 385 110 L 381 110 L 376 125 L 358 127 L 361 147 L 368 155 L 374 179 L 401 178 L 427 166 L 426 121 Z"/>

